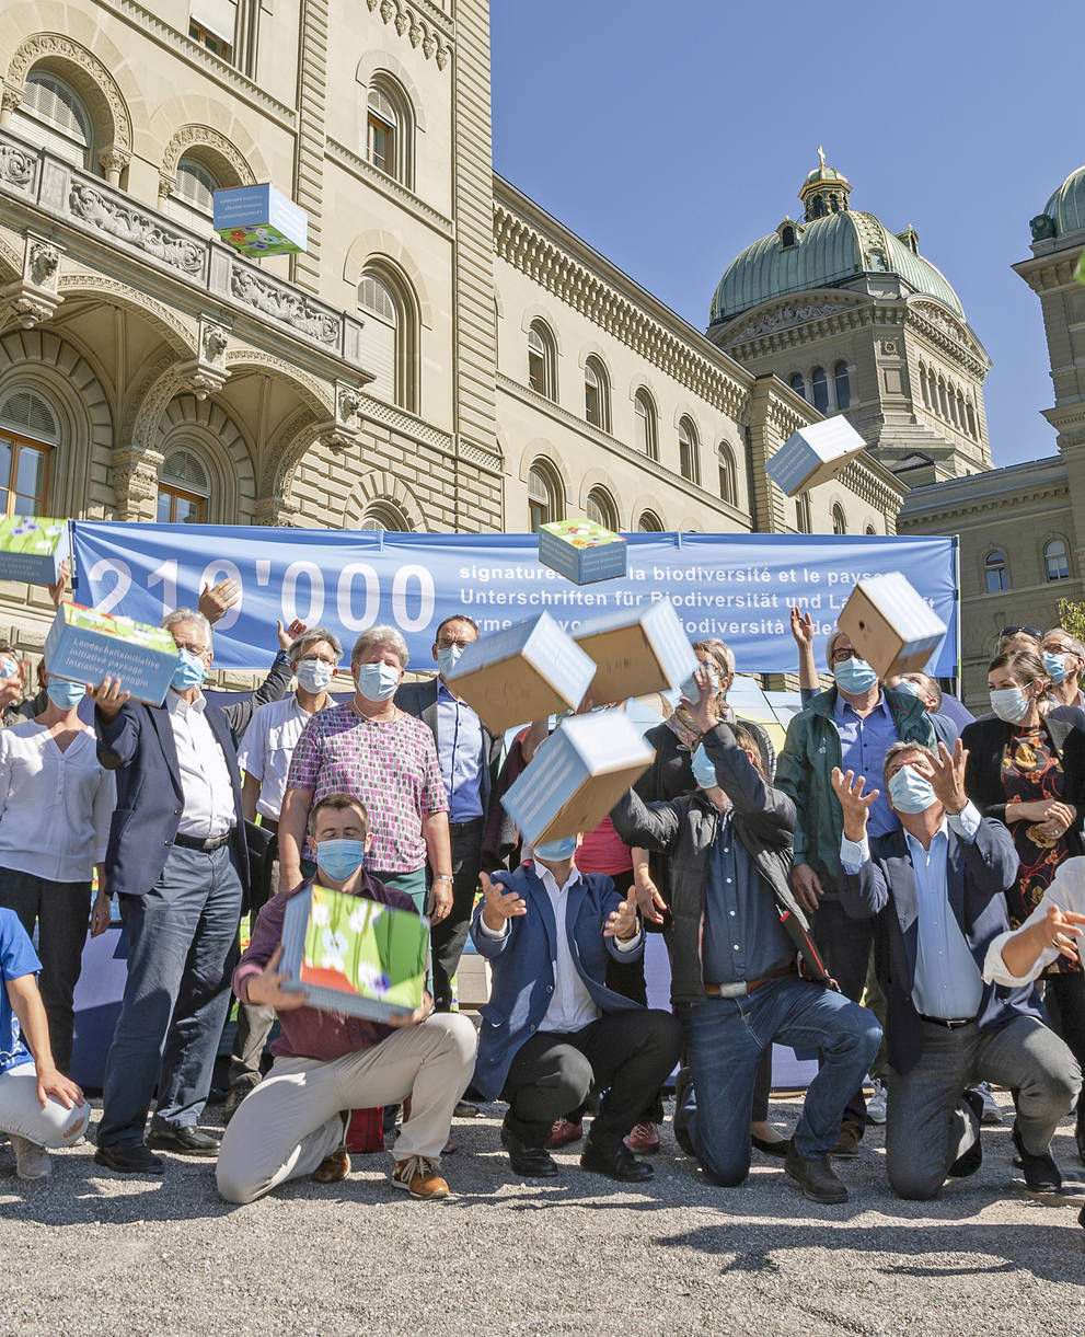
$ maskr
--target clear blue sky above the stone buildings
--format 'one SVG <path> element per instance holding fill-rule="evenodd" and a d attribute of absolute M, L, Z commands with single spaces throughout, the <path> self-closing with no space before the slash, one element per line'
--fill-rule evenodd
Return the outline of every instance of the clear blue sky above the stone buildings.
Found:
<path fill-rule="evenodd" d="M 1054 453 L 1040 302 L 1010 265 L 1085 163 L 1069 0 L 492 0 L 494 166 L 704 329 L 727 265 L 824 144 L 854 209 L 911 223 L 994 366 L 995 464 Z"/>

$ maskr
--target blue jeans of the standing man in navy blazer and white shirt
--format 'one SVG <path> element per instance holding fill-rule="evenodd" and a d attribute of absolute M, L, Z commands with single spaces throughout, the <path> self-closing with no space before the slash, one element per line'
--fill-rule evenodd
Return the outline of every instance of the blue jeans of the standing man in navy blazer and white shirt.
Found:
<path fill-rule="evenodd" d="M 128 980 L 106 1060 L 100 1147 L 155 1123 L 192 1127 L 211 1090 L 237 960 L 242 885 L 231 846 L 174 845 L 146 896 L 122 896 Z"/>

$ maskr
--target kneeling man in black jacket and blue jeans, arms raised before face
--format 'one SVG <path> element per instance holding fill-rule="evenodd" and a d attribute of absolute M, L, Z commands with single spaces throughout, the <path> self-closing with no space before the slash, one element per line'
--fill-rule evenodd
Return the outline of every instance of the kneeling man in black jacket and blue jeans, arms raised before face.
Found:
<path fill-rule="evenodd" d="M 645 805 L 629 790 L 611 814 L 631 845 L 671 856 L 665 933 L 671 999 L 692 1066 L 688 1131 L 706 1177 L 738 1185 L 750 1173 L 750 1111 L 764 1048 L 820 1048 L 784 1167 L 814 1202 L 846 1202 L 828 1151 L 844 1102 L 862 1082 L 882 1032 L 875 1016 L 830 987 L 788 886 L 795 808 L 766 785 L 755 753 L 720 723 L 703 673 L 689 714 L 703 735 L 700 786 Z M 800 979 L 796 955 L 814 979 Z M 684 1099 L 689 1115 L 692 1100 Z"/>

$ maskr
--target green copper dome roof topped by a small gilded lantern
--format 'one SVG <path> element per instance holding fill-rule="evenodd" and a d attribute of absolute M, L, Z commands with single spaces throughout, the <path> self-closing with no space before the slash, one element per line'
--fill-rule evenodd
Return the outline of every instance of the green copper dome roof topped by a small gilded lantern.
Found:
<path fill-rule="evenodd" d="M 851 187 L 822 162 L 803 182 L 806 222 L 784 221 L 727 266 L 712 298 L 714 325 L 774 297 L 835 287 L 863 274 L 895 274 L 917 293 L 943 302 L 961 320 L 963 308 L 945 275 L 918 253 L 915 233 L 890 233 L 873 214 L 848 207 Z"/>

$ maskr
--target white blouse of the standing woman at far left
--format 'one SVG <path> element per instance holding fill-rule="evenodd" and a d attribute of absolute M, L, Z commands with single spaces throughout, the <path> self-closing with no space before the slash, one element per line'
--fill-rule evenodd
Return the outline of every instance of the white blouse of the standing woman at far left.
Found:
<path fill-rule="evenodd" d="M 51 882 L 88 882 L 106 858 L 116 806 L 92 729 L 61 751 L 33 719 L 0 731 L 0 866 Z"/>

